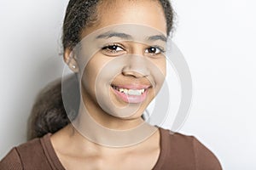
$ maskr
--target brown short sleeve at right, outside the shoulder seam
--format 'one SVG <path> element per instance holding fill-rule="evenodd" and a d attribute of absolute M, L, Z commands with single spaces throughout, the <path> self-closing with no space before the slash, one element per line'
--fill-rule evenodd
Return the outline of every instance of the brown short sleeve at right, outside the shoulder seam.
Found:
<path fill-rule="evenodd" d="M 197 170 L 222 170 L 218 158 L 204 144 L 193 138 L 195 167 Z"/>

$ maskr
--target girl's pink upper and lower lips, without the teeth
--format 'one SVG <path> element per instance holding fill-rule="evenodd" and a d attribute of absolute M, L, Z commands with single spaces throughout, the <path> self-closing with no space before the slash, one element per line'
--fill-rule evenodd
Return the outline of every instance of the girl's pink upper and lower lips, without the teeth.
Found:
<path fill-rule="evenodd" d="M 144 93 L 141 95 L 129 95 L 129 94 L 124 94 L 119 92 L 119 90 L 113 88 L 113 86 L 118 87 L 118 88 L 128 88 L 128 89 L 145 89 Z M 131 103 L 131 104 L 139 104 L 142 103 L 148 96 L 148 88 L 150 86 L 148 85 L 111 85 L 111 88 L 113 90 L 113 93 L 121 100 L 123 100 L 125 103 Z"/>

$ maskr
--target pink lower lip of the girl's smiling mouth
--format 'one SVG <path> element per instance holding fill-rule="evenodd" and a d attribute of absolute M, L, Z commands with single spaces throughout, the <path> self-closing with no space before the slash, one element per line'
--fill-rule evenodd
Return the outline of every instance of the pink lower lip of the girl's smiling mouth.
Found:
<path fill-rule="evenodd" d="M 145 89 L 144 93 L 141 95 L 128 95 L 128 94 L 121 93 L 114 88 L 112 88 L 112 89 L 113 89 L 114 94 L 116 94 L 120 99 L 122 99 L 126 103 L 131 103 L 131 104 L 142 103 L 146 99 L 147 94 L 148 94 L 148 89 Z"/>

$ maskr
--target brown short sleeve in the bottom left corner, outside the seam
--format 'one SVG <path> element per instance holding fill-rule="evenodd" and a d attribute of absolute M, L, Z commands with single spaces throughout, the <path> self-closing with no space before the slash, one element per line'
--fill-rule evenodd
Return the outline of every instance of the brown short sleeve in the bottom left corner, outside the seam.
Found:
<path fill-rule="evenodd" d="M 0 169 L 4 170 L 22 170 L 22 164 L 20 161 L 20 156 L 16 148 L 13 148 L 9 153 L 3 157 L 0 161 Z"/>

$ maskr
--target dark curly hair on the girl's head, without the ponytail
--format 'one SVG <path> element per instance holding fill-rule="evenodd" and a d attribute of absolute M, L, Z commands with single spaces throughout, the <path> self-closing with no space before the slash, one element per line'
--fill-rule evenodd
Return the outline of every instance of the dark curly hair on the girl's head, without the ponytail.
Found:
<path fill-rule="evenodd" d="M 113 3 L 114 0 L 111 0 Z M 130 0 L 131 1 L 131 0 Z M 173 28 L 174 12 L 169 0 L 154 0 L 159 2 L 166 16 L 167 36 Z M 100 18 L 97 7 L 108 3 L 108 0 L 71 0 L 68 3 L 63 25 L 63 48 L 74 48 L 80 42 L 84 27 L 91 26 Z"/>

